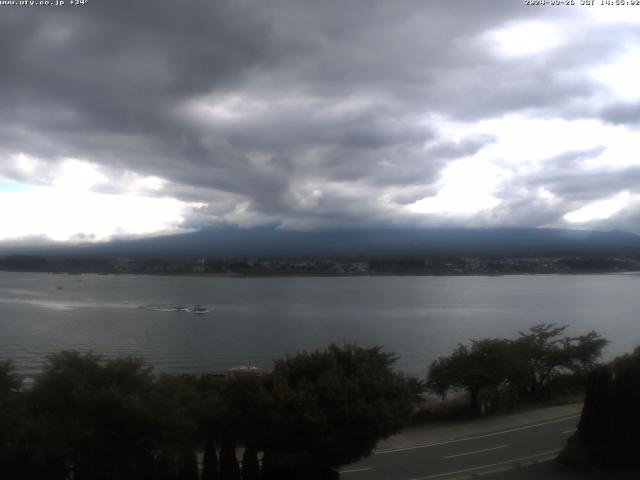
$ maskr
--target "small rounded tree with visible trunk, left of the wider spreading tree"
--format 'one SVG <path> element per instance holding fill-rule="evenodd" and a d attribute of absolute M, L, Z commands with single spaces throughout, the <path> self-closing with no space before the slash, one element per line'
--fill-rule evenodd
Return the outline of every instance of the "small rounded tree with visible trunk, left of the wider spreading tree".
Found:
<path fill-rule="evenodd" d="M 511 342 L 500 339 L 472 340 L 458 345 L 448 357 L 440 357 L 429 367 L 427 387 L 441 396 L 451 389 L 469 393 L 469 413 L 480 414 L 480 392 L 497 388 L 510 376 Z"/>

